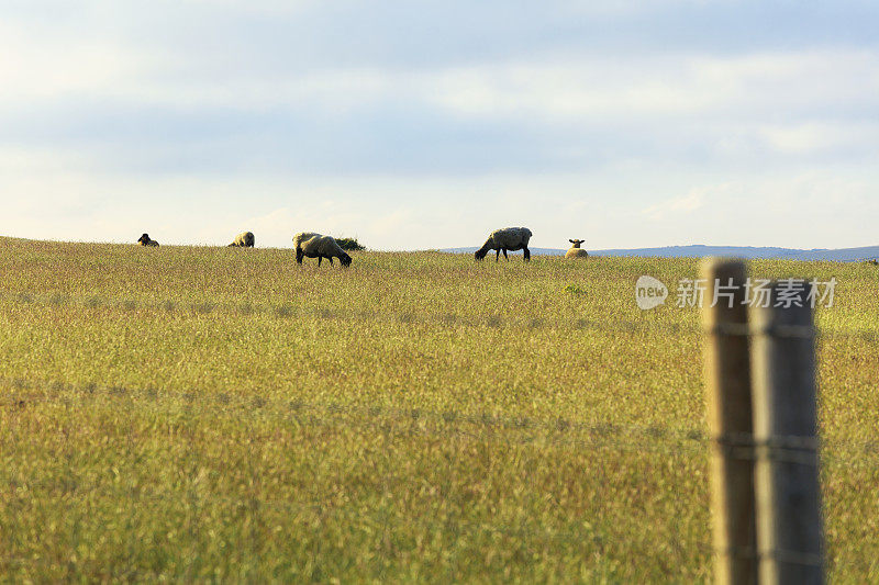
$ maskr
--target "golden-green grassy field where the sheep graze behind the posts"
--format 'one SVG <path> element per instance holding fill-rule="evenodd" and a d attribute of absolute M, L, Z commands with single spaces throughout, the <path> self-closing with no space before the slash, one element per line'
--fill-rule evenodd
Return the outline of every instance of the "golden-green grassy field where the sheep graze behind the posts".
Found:
<path fill-rule="evenodd" d="M 696 260 L 0 238 L 0 581 L 704 582 Z M 817 322 L 830 578 L 879 581 L 879 270 Z"/>

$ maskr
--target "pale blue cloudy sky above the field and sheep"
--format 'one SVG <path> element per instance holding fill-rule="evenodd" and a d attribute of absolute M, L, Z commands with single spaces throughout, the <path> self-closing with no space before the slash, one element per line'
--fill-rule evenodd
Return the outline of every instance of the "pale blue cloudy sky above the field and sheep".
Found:
<path fill-rule="evenodd" d="M 879 245 L 872 0 L 3 0 L 0 235 Z"/>

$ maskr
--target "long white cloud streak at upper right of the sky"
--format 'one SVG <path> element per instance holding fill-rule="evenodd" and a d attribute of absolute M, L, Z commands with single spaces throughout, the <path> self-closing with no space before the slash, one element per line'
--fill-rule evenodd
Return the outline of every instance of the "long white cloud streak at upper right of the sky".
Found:
<path fill-rule="evenodd" d="M 879 53 L 828 49 L 482 65 L 437 74 L 429 94 L 475 116 L 582 122 L 617 116 L 733 117 L 754 111 L 870 105 Z"/>

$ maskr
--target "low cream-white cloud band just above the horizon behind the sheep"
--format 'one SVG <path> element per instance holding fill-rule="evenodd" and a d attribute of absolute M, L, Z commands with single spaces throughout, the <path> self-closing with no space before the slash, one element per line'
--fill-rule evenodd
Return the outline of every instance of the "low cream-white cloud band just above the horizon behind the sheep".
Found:
<path fill-rule="evenodd" d="M 287 248 L 294 233 L 316 230 L 357 236 L 374 249 L 427 249 L 478 245 L 491 229 L 526 225 L 535 247 L 564 247 L 569 237 L 586 238 L 591 249 L 876 244 L 876 171 L 747 173 L 721 182 L 689 175 L 676 184 L 667 170 L 137 181 L 55 171 L 29 175 L 26 183 L 0 179 L 0 234 L 124 243 L 147 232 L 163 244 L 225 245 L 251 229 L 260 247 Z M 33 193 L 27 204 L 19 192 Z M 647 201 L 648 193 L 663 203 Z"/>

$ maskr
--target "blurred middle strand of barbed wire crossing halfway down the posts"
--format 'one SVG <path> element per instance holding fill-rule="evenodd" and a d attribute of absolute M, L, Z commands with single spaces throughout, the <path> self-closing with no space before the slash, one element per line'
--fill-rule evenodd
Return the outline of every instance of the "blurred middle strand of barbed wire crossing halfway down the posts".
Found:
<path fill-rule="evenodd" d="M 266 398 L 242 396 L 225 392 L 180 392 L 156 389 L 131 389 L 120 385 L 68 384 L 59 381 L 33 381 L 22 378 L 0 376 L 0 384 L 16 391 L 0 400 L 0 408 L 23 409 L 36 403 L 94 401 L 99 397 L 159 403 L 162 400 L 180 401 L 187 405 L 198 403 L 199 410 L 214 410 L 249 417 L 275 417 L 294 420 L 300 425 L 329 426 L 335 421 L 354 423 L 360 426 L 379 426 L 387 421 L 423 424 L 399 429 L 410 435 L 464 436 L 483 442 L 510 445 L 534 445 L 565 448 L 614 448 L 617 450 L 647 451 L 664 454 L 708 453 L 714 446 L 724 449 L 734 459 L 778 459 L 805 464 L 816 464 L 817 449 L 823 463 L 844 463 L 853 458 L 878 455 L 879 440 L 834 437 L 820 439 L 809 437 L 771 437 L 757 440 L 750 435 L 735 434 L 710 437 L 696 427 L 672 428 L 658 425 L 591 424 L 564 417 L 536 418 L 528 416 L 500 416 L 489 413 L 463 413 L 459 410 L 431 410 L 425 408 L 401 408 L 379 404 L 341 404 L 308 402 L 300 398 Z M 38 392 L 34 392 L 38 391 Z M 433 423 L 429 427 L 426 423 Z M 472 429 L 472 430 L 470 430 Z M 844 457 L 849 454 L 850 457 Z"/>

